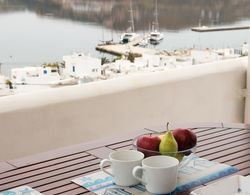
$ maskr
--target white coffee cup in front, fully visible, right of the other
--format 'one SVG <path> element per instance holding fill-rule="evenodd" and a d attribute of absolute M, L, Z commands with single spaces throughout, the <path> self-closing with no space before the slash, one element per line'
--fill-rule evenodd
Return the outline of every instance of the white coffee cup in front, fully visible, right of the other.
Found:
<path fill-rule="evenodd" d="M 170 156 L 151 156 L 133 169 L 133 176 L 153 194 L 171 193 L 176 188 L 179 161 Z M 141 175 L 140 177 L 139 175 Z"/>

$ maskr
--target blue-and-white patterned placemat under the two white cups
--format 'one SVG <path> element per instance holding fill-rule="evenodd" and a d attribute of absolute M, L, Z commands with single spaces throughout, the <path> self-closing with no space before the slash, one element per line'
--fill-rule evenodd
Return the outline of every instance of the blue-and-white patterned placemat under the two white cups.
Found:
<path fill-rule="evenodd" d="M 188 163 L 178 171 L 178 182 L 176 191 L 181 192 L 190 188 L 200 186 L 201 184 L 230 175 L 237 172 L 235 167 L 208 161 L 195 155 L 188 159 Z M 113 178 L 102 171 L 90 174 L 88 176 L 72 180 L 74 183 L 92 191 L 96 194 L 104 194 L 107 188 L 117 190 L 114 194 L 146 194 L 145 186 L 142 184 L 121 188 L 113 182 Z"/>

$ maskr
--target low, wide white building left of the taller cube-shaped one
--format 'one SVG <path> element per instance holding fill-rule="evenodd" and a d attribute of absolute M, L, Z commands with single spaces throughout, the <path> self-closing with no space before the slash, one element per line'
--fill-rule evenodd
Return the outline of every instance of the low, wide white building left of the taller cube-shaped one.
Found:
<path fill-rule="evenodd" d="M 11 70 L 14 84 L 50 85 L 60 80 L 56 67 L 24 67 Z"/>

